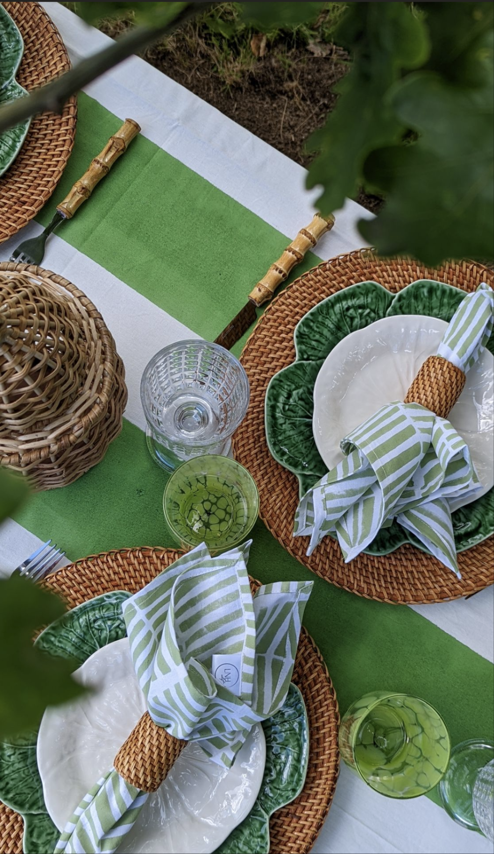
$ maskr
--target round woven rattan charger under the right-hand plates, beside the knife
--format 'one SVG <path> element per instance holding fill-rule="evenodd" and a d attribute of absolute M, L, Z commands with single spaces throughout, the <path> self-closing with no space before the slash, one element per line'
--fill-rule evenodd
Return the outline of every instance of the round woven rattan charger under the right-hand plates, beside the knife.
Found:
<path fill-rule="evenodd" d="M 298 504 L 297 477 L 269 453 L 264 398 L 273 374 L 295 361 L 293 332 L 310 308 L 357 282 L 372 280 L 396 294 L 420 278 L 466 291 L 475 290 L 480 282 L 491 287 L 494 284 L 494 274 L 483 266 L 445 263 L 432 269 L 412 260 L 379 260 L 366 249 L 339 255 L 297 278 L 273 300 L 244 347 L 240 360 L 249 377 L 250 406 L 233 436 L 235 459 L 254 477 L 261 518 L 281 545 L 301 564 L 337 587 L 397 604 L 444 602 L 488 587 L 494 582 L 492 537 L 458 554 L 462 581 L 437 559 L 409 545 L 383 557 L 361 554 L 345 564 L 338 542 L 325 537 L 308 558 L 307 537 L 292 535 Z"/>

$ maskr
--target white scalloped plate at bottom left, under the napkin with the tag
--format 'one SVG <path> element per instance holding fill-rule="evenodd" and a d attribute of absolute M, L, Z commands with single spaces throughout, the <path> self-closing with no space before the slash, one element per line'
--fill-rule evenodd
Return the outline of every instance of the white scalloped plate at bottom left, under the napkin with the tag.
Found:
<path fill-rule="evenodd" d="M 59 830 L 115 755 L 146 705 L 128 640 L 103 646 L 75 671 L 91 693 L 48 708 L 38 734 L 44 803 Z M 254 806 L 266 762 L 261 726 L 252 729 L 227 770 L 188 744 L 158 791 L 151 794 L 118 851 L 181 854 L 215 851 Z"/>

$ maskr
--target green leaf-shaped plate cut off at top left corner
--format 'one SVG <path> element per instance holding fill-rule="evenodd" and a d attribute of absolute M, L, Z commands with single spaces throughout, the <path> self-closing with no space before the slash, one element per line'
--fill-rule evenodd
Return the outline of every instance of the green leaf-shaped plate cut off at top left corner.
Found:
<path fill-rule="evenodd" d="M 9 13 L 0 5 L 0 106 L 27 95 L 26 89 L 15 80 L 23 53 L 21 32 Z M 31 119 L 26 119 L 20 125 L 0 134 L 0 176 L 15 161 L 30 125 Z"/>

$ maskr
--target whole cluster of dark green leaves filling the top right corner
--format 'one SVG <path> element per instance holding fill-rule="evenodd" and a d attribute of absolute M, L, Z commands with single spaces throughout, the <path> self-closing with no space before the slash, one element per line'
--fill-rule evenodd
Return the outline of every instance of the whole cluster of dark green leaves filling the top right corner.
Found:
<path fill-rule="evenodd" d="M 491 3 L 350 3 L 338 27 L 353 67 L 308 186 L 322 213 L 360 185 L 384 196 L 359 224 L 379 254 L 493 257 L 493 20 Z"/>

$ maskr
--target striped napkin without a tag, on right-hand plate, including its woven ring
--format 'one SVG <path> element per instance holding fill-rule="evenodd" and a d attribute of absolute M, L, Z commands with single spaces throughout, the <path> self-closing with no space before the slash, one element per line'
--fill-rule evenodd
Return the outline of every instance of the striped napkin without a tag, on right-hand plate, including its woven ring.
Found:
<path fill-rule="evenodd" d="M 493 307 L 487 284 L 466 295 L 406 402 L 381 407 L 344 437 L 345 459 L 297 507 L 294 536 L 310 536 L 308 555 L 332 534 L 348 563 L 396 518 L 460 577 L 450 500 L 467 499 L 481 484 L 467 444 L 440 415 L 456 402 L 489 340 Z"/>

